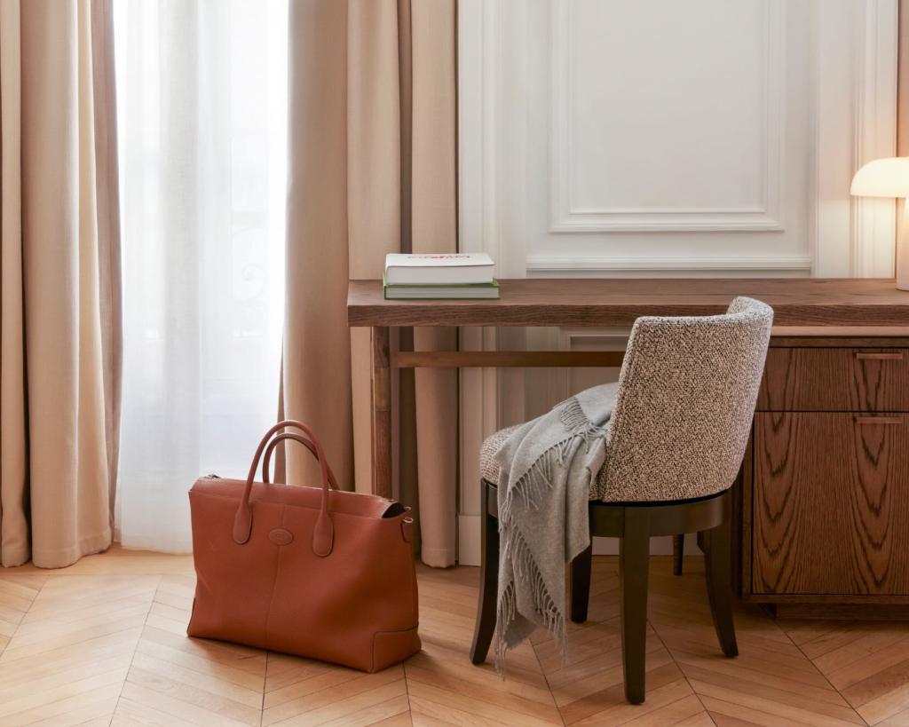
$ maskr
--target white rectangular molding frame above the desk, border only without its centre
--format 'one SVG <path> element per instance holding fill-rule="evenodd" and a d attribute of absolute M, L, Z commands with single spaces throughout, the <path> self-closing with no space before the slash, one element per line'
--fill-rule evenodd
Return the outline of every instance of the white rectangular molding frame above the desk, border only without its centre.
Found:
<path fill-rule="evenodd" d="M 779 231 L 784 229 L 785 0 L 764 0 L 760 204 L 744 207 L 580 208 L 571 198 L 574 110 L 571 0 L 552 0 L 550 224 L 553 233 Z"/>

